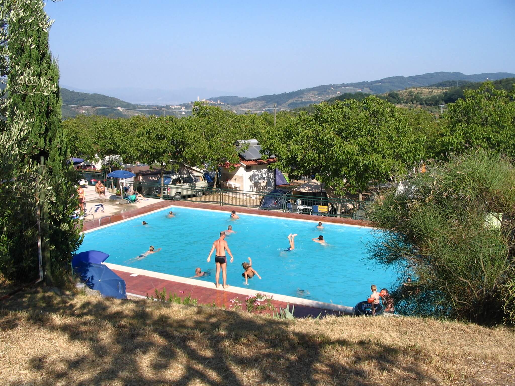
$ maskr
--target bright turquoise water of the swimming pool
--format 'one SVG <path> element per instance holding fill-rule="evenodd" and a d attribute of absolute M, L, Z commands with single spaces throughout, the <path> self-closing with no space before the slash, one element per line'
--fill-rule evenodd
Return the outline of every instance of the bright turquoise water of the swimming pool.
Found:
<path fill-rule="evenodd" d="M 244 214 L 231 220 L 229 213 L 183 207 L 173 208 L 176 217 L 168 218 L 168 210 L 87 233 L 78 252 L 99 250 L 108 253 L 107 262 L 113 264 L 183 277 L 194 276 L 195 268 L 200 267 L 211 276 L 199 280 L 214 282 L 215 254 L 210 263 L 206 259 L 220 231 L 232 225 L 237 233 L 226 238 L 234 256 L 234 262 L 227 265 L 231 286 L 245 287 L 242 262 L 248 261 L 247 257 L 262 277 L 249 279 L 248 288 L 339 305 L 354 306 L 367 299 L 371 284 L 379 290 L 394 278 L 392 272 L 363 259 L 365 244 L 373 237 L 371 229 L 324 224 L 324 229 L 318 230 L 316 221 Z M 290 233 L 298 234 L 295 250 L 285 252 Z M 323 235 L 328 245 L 312 241 L 318 235 Z M 129 261 L 150 245 L 162 250 Z"/>

